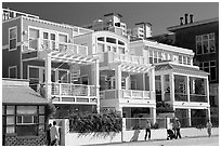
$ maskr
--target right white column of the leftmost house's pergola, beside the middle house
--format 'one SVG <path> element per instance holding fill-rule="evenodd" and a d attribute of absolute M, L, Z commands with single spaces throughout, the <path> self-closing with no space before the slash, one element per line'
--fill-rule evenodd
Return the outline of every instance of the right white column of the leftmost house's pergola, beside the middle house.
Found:
<path fill-rule="evenodd" d="M 96 111 L 100 112 L 100 69 L 99 69 L 99 59 L 95 60 L 94 64 L 94 85 L 95 85 L 95 94 L 98 98 Z"/>

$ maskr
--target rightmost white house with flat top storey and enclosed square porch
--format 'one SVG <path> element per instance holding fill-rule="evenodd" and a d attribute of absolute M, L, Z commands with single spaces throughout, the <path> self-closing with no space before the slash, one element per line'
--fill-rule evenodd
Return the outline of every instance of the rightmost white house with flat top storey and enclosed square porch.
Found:
<path fill-rule="evenodd" d="M 148 40 L 130 43 L 130 51 L 143 55 L 155 67 L 156 103 L 169 104 L 182 126 L 202 124 L 210 118 L 208 73 L 193 66 L 194 52 Z"/>

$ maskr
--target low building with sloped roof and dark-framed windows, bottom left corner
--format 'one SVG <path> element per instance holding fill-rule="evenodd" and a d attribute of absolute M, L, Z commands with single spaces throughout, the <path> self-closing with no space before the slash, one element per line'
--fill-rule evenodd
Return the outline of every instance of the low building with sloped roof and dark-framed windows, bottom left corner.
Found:
<path fill-rule="evenodd" d="M 28 80 L 2 80 L 2 145 L 43 146 L 50 104 Z"/>

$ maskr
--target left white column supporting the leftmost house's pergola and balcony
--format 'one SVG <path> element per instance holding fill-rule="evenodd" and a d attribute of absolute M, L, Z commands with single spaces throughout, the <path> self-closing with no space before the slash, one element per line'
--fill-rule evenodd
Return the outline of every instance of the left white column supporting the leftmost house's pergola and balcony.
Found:
<path fill-rule="evenodd" d="M 46 55 L 46 98 L 48 100 L 51 99 L 51 53 L 47 53 Z"/>

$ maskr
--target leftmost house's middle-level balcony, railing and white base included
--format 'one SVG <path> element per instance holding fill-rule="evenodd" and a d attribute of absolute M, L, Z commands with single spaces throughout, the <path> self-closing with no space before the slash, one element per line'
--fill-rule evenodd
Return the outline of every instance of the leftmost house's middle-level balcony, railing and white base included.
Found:
<path fill-rule="evenodd" d="M 96 103 L 94 85 L 52 83 L 53 102 Z"/>

